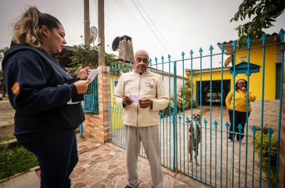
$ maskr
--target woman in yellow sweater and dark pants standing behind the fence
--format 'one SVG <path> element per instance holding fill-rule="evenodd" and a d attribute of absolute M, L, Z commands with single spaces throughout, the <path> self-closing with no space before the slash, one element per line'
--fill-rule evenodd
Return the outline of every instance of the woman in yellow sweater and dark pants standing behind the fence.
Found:
<path fill-rule="evenodd" d="M 248 95 L 249 101 L 254 102 L 256 97 L 252 94 L 252 92 L 249 92 Z M 248 103 L 248 117 L 252 112 L 250 102 Z M 234 140 L 234 136 L 237 134 L 233 132 L 239 132 L 239 124 L 242 125 L 242 132 L 241 135 L 237 135 L 237 140 L 242 140 L 244 137 L 244 126 L 247 122 L 247 80 L 237 80 L 235 90 L 231 90 L 227 95 L 226 105 L 227 109 L 229 110 L 229 121 L 231 122 L 231 125 L 229 126 L 229 142 L 232 142 L 232 140 Z"/>

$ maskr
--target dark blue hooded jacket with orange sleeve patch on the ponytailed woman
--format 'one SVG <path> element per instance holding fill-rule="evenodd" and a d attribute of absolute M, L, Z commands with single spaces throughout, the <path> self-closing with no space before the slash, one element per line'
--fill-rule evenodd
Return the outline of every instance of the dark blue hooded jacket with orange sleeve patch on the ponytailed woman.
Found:
<path fill-rule="evenodd" d="M 43 48 L 13 46 L 5 53 L 2 68 L 16 110 L 14 135 L 72 130 L 83 122 L 81 103 L 67 104 L 77 93 L 76 86 L 68 84 L 71 75 Z"/>

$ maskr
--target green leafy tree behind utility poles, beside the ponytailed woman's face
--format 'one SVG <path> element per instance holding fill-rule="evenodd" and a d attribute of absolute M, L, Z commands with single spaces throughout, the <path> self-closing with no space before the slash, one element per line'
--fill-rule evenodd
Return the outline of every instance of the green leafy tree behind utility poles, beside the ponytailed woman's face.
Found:
<path fill-rule="evenodd" d="M 73 46 L 74 51 L 70 57 L 71 61 L 76 65 L 69 68 L 68 71 L 74 73 L 80 66 L 90 67 L 91 69 L 98 67 L 98 46 L 78 45 Z M 115 55 L 105 53 L 105 66 L 110 66 L 115 62 Z"/>

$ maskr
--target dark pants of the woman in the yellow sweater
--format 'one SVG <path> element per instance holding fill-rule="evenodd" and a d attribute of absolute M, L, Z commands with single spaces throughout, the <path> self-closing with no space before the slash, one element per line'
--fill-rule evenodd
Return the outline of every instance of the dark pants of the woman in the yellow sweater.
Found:
<path fill-rule="evenodd" d="M 239 112 L 237 110 L 235 111 L 229 110 L 229 121 L 231 122 L 231 125 L 229 126 L 229 139 L 234 140 L 234 136 L 237 135 L 237 140 L 242 140 L 242 138 L 244 137 L 243 135 L 244 126 L 245 126 L 245 123 L 247 122 L 247 113 Z M 239 134 L 239 127 L 238 127 L 239 124 L 242 125 L 242 130 L 240 132 L 242 135 Z M 232 133 L 233 130 L 234 132 L 237 132 L 237 133 L 233 134 Z"/>

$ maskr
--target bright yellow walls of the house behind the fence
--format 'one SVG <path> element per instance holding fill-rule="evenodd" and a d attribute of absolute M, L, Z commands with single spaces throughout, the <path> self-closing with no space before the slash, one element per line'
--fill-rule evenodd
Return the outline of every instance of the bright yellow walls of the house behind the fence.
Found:
<path fill-rule="evenodd" d="M 252 46 L 254 47 L 254 46 Z M 264 100 L 274 100 L 276 90 L 276 46 L 266 46 L 265 51 L 265 75 L 264 75 Z M 248 51 L 237 51 L 236 53 L 236 64 L 239 64 L 239 58 L 247 56 Z M 248 56 L 247 56 L 248 59 Z M 259 73 L 252 73 L 249 76 L 249 90 L 257 96 L 257 100 L 262 99 L 262 60 L 263 60 L 263 49 L 256 48 L 250 51 L 249 62 L 261 66 Z M 279 62 L 277 62 L 279 63 Z M 212 70 L 212 80 L 221 80 L 222 72 Z M 187 74 L 188 78 L 191 78 L 190 74 Z M 210 80 L 210 73 L 202 72 L 202 81 Z M 243 78 L 247 80 L 247 76 L 244 74 L 237 74 L 235 80 Z M 196 99 L 196 81 L 199 81 L 199 73 L 193 74 L 193 98 Z M 224 70 L 224 80 L 231 80 L 231 90 L 234 87 L 234 79 L 229 70 Z"/>

